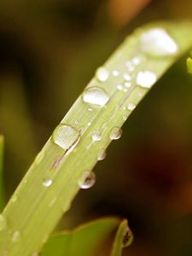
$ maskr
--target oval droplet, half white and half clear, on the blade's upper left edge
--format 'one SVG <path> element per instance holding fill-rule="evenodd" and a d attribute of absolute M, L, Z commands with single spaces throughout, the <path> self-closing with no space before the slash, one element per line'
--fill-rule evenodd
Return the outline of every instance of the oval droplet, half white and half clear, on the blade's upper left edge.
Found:
<path fill-rule="evenodd" d="M 100 87 L 94 86 L 84 90 L 83 101 L 96 107 L 103 107 L 109 100 L 108 93 Z"/>

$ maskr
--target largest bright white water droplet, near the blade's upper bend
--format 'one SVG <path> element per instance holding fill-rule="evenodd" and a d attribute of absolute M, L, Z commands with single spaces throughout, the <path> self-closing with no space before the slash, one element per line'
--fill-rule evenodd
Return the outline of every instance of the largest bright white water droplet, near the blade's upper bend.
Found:
<path fill-rule="evenodd" d="M 176 42 L 161 27 L 152 28 L 141 36 L 141 48 L 144 53 L 157 57 L 175 55 L 178 50 Z"/>

